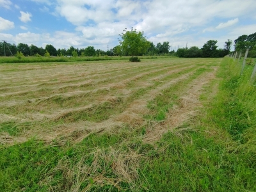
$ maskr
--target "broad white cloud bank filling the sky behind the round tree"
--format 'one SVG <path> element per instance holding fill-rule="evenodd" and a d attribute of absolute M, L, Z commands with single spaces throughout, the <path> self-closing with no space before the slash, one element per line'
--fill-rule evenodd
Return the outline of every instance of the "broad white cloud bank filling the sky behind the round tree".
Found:
<path fill-rule="evenodd" d="M 106 50 L 108 45 L 109 48 L 118 45 L 118 34 L 122 33 L 124 28 L 131 27 L 144 31 L 148 40 L 154 44 L 168 41 L 176 49 L 186 46 L 186 42 L 188 47 L 202 47 L 209 39 L 218 40 L 222 48 L 228 38 L 234 40 L 233 38 L 244 33 L 250 34 L 248 31 L 253 30 L 252 33 L 255 33 L 255 25 L 250 28 L 244 25 L 243 29 L 241 26 L 245 19 L 250 20 L 248 23 L 255 22 L 255 0 L 246 0 L 244 3 L 241 3 L 241 0 L 233 0 L 231 3 L 230 0 L 106 0 L 104 3 L 102 0 L 29 1 L 42 3 L 39 8 L 41 12 L 50 13 L 54 8 L 54 13 L 50 14 L 57 17 L 56 20 L 60 20 L 60 24 L 63 24 L 61 19 L 65 19 L 74 25 L 74 29 L 68 25 L 51 33 L 28 32 L 13 36 L 17 41 L 22 40 L 22 36 L 27 44 L 31 41 L 36 44 L 35 41 L 38 40 L 38 46 L 52 44 L 56 48 L 68 48 L 71 45 L 93 45 L 95 49 Z M 24 17 L 23 22 L 28 22 L 32 15 L 28 12 L 25 14 L 27 17 Z M 45 32 L 48 30 L 52 31 L 43 29 Z M 234 32 L 235 30 L 237 32 Z M 28 35 L 31 35 L 31 38 L 28 38 Z"/>

